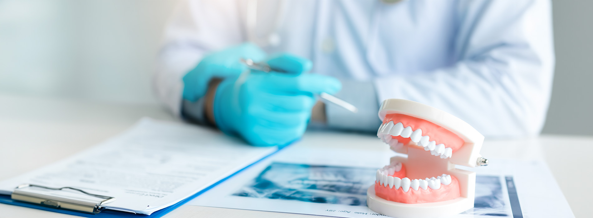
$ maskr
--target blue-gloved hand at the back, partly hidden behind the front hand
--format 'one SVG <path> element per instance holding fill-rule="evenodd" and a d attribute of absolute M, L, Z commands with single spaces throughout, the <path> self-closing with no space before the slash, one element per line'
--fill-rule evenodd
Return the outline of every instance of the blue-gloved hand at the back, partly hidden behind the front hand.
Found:
<path fill-rule="evenodd" d="M 208 82 L 212 78 L 227 78 L 241 74 L 247 69 L 239 62 L 241 58 L 260 62 L 266 58 L 266 53 L 255 44 L 244 43 L 206 55 L 196 68 L 183 76 L 183 99 L 196 101 L 205 95 Z"/>

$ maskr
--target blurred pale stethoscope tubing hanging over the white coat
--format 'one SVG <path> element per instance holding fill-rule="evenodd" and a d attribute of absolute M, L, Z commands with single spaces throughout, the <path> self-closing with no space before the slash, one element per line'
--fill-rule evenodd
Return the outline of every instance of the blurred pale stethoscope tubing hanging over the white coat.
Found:
<path fill-rule="evenodd" d="M 285 0 L 274 1 L 278 6 L 276 7 L 275 11 L 276 16 L 273 23 L 273 28 L 271 33 L 264 34 L 263 36 L 258 36 L 257 34 L 257 1 L 258 0 L 247 0 L 247 12 L 246 12 L 246 32 L 247 32 L 247 40 L 253 43 L 258 44 L 259 46 L 278 46 L 281 42 L 280 34 L 278 30 L 280 29 L 280 25 L 282 25 L 282 20 L 284 18 L 283 14 L 285 12 Z M 395 4 L 397 2 L 403 0 L 381 0 L 385 4 Z"/>

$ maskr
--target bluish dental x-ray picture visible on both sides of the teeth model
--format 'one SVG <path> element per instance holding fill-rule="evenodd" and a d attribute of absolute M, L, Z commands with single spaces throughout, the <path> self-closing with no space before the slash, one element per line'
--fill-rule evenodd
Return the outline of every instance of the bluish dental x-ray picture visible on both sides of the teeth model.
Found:
<path fill-rule="evenodd" d="M 313 203 L 366 206 L 366 189 L 376 168 L 273 162 L 232 195 Z M 474 208 L 461 216 L 510 217 L 499 176 L 477 175 Z"/>

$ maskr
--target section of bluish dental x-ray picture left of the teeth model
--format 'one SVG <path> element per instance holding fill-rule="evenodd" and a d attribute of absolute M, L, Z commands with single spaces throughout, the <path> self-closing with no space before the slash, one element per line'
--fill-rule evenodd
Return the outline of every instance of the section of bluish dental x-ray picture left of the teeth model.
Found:
<path fill-rule="evenodd" d="M 375 168 L 273 162 L 233 195 L 314 203 L 366 205 Z"/>

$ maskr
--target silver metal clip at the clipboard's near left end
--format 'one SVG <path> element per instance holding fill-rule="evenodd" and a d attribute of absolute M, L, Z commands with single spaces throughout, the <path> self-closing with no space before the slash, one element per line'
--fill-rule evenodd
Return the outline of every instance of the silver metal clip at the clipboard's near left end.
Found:
<path fill-rule="evenodd" d="M 78 191 L 74 193 L 73 190 Z M 66 192 L 60 194 L 59 192 Z M 79 194 L 81 196 L 73 196 Z M 41 185 L 23 184 L 12 191 L 12 200 L 25 201 L 33 204 L 40 204 L 46 207 L 57 209 L 74 210 L 82 213 L 97 214 L 104 207 L 101 204 L 110 203 L 116 200 L 114 197 L 108 197 L 97 194 L 90 194 L 78 188 L 62 187 L 50 188 Z"/>

